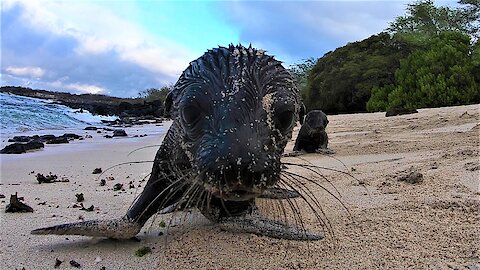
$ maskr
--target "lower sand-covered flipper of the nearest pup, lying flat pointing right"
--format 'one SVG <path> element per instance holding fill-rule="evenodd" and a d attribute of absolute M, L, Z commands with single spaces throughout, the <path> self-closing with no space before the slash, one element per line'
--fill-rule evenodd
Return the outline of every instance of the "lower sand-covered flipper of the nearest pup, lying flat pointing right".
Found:
<path fill-rule="evenodd" d="M 316 241 L 325 237 L 322 233 L 311 233 L 296 226 L 266 219 L 259 215 L 224 217 L 220 219 L 219 226 L 224 231 L 253 233 L 287 240 Z"/>

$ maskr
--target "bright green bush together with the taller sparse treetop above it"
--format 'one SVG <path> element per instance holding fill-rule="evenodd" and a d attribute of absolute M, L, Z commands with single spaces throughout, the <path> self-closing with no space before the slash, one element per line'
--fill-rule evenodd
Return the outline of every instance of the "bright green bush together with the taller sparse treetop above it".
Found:
<path fill-rule="evenodd" d="M 414 49 L 401 61 L 395 83 L 372 89 L 369 111 L 480 102 L 478 0 L 452 9 L 433 1 L 410 4 L 387 29 Z M 472 44 L 473 43 L 473 44 Z"/>

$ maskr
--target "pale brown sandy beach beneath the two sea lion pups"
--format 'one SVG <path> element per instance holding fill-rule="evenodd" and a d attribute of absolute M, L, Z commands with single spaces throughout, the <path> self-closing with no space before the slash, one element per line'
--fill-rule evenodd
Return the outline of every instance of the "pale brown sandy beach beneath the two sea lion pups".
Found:
<path fill-rule="evenodd" d="M 325 225 L 301 199 L 293 204 L 302 209 L 307 229 L 325 232 L 323 240 L 298 242 L 223 232 L 195 211 L 177 214 L 168 229 L 159 224 L 170 223 L 172 217 L 157 216 L 143 229 L 140 242 L 30 235 L 34 228 L 80 216 L 121 216 L 141 191 L 137 187 L 151 164 L 112 168 L 100 178 L 115 180 L 103 187 L 91 172 L 151 160 L 155 147 L 128 153 L 160 143 L 161 136 L 94 138 L 1 156 L 0 193 L 6 198 L 0 204 L 0 269 L 51 269 L 56 258 L 64 261 L 60 269 L 71 268 L 70 260 L 83 269 L 480 269 L 480 105 L 389 118 L 384 113 L 339 115 L 329 120 L 330 148 L 336 154 L 284 159 L 324 168 L 314 172 L 287 166 L 287 171 L 316 183 L 296 177 L 318 200 Z M 292 146 L 293 142 L 287 151 Z M 405 170 L 421 173 L 422 181 L 399 181 Z M 40 185 L 32 171 L 52 172 L 70 182 Z M 130 181 L 136 188 L 128 188 Z M 113 191 L 116 183 L 126 185 L 126 190 Z M 15 192 L 25 197 L 33 213 L 4 213 Z M 95 211 L 72 208 L 79 192 L 85 195 L 84 205 L 94 205 Z M 284 218 L 278 201 L 259 204 L 265 215 Z M 135 256 L 143 246 L 151 247 L 152 253 Z"/>

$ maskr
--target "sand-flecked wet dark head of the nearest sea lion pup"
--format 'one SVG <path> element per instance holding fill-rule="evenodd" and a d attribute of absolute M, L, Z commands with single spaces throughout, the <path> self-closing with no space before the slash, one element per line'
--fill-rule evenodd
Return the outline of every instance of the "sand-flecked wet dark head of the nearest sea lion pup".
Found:
<path fill-rule="evenodd" d="M 262 51 L 241 46 L 207 52 L 173 91 L 182 149 L 214 196 L 259 196 L 280 176 L 280 157 L 299 110 L 292 77 Z M 180 142 L 179 142 L 180 143 Z"/>

